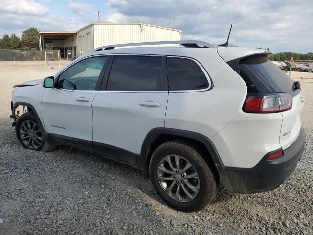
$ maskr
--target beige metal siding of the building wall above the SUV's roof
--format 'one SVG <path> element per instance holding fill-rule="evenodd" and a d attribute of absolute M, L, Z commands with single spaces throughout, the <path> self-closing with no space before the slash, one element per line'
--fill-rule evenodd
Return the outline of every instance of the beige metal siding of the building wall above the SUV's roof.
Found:
<path fill-rule="evenodd" d="M 94 24 L 93 49 L 101 46 L 180 40 L 181 32 L 140 24 Z"/>

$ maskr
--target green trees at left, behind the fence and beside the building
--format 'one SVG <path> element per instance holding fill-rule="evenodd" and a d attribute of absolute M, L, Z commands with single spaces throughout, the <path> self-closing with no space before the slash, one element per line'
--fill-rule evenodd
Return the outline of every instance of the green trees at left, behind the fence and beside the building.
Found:
<path fill-rule="evenodd" d="M 46 50 L 52 50 L 52 43 L 45 43 Z M 8 50 L 39 50 L 39 31 L 37 28 L 28 28 L 23 31 L 19 38 L 12 33 L 11 36 L 4 34 L 0 38 L 0 49 Z"/>

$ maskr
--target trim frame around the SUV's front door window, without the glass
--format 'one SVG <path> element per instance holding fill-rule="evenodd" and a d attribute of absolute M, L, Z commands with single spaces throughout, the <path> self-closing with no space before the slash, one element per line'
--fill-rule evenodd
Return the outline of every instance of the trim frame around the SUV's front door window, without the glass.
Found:
<path fill-rule="evenodd" d="M 64 89 L 64 88 L 60 88 L 60 87 L 56 87 L 58 81 L 59 81 L 59 77 L 60 75 L 64 72 L 64 71 L 67 71 L 67 69 L 71 68 L 72 66 L 76 65 L 77 63 L 83 61 L 83 60 L 86 60 L 86 59 L 89 59 L 89 58 L 93 58 L 93 57 L 108 57 L 108 59 L 106 60 L 106 62 L 104 63 L 103 67 L 102 67 L 102 70 L 99 74 L 99 79 L 97 81 L 97 84 L 96 84 L 96 87 L 94 90 L 69 90 L 69 89 Z M 80 58 L 78 59 L 77 61 L 75 61 L 75 63 L 65 67 L 63 70 L 59 71 L 57 73 L 57 75 L 54 77 L 54 88 L 55 89 L 59 89 L 59 90 L 63 90 L 63 91 L 68 91 L 68 92 L 99 92 L 100 91 L 100 87 L 101 87 L 101 84 L 103 82 L 103 79 L 104 79 L 104 75 L 105 75 L 105 72 L 108 68 L 108 64 L 109 62 L 111 61 L 111 57 L 112 57 L 112 54 L 100 54 L 100 55 L 90 55 L 90 56 L 86 56 L 86 57 L 83 57 L 83 58 Z"/>

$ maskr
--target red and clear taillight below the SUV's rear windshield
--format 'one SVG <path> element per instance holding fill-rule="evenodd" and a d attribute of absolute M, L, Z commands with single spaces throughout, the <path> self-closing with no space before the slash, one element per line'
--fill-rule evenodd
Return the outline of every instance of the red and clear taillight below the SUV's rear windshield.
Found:
<path fill-rule="evenodd" d="M 248 94 L 244 104 L 244 111 L 247 113 L 277 113 L 291 108 L 290 94 Z"/>

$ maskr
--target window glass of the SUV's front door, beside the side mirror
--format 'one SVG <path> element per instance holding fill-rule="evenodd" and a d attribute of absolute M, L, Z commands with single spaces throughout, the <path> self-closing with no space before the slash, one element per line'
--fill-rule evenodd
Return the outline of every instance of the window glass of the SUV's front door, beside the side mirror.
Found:
<path fill-rule="evenodd" d="M 107 58 L 97 56 L 77 62 L 59 75 L 56 87 L 68 90 L 95 90 Z"/>

